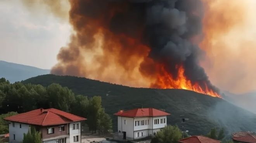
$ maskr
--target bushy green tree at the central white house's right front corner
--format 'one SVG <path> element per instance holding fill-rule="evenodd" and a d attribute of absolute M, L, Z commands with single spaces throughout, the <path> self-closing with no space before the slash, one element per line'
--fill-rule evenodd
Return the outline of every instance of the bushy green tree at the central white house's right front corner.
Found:
<path fill-rule="evenodd" d="M 151 143 L 177 143 L 182 138 L 181 130 L 178 126 L 166 126 L 157 132 Z"/>

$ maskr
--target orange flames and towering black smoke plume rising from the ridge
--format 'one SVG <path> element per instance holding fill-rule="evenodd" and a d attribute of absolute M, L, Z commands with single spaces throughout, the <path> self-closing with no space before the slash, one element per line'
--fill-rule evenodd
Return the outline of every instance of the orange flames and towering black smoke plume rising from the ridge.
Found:
<path fill-rule="evenodd" d="M 220 97 L 200 60 L 201 0 L 70 0 L 74 33 L 52 68 L 133 87 Z"/>

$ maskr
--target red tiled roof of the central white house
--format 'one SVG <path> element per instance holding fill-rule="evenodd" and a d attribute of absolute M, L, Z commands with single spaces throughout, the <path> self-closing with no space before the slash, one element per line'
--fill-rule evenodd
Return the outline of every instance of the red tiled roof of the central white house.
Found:
<path fill-rule="evenodd" d="M 121 110 L 118 113 L 115 113 L 114 115 L 135 118 L 135 117 L 167 116 L 170 114 L 154 108 L 137 108 L 137 109 L 132 109 L 128 111 Z"/>

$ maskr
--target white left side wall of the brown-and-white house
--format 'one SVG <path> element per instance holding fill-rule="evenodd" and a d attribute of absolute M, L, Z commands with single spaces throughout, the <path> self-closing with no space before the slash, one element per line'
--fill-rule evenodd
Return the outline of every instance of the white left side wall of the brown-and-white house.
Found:
<path fill-rule="evenodd" d="M 14 123 L 14 127 L 12 126 L 12 123 Z M 21 124 L 21 128 L 20 128 Z M 10 122 L 9 121 L 9 143 L 20 143 L 23 140 L 24 133 L 28 133 L 29 125 L 28 124 L 22 124 L 17 122 Z M 14 134 L 15 134 L 15 140 L 14 140 Z"/>

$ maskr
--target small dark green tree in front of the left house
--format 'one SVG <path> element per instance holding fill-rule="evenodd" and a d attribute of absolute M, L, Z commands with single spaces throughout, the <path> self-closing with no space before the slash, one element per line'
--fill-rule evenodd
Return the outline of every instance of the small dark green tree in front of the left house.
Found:
<path fill-rule="evenodd" d="M 31 126 L 28 133 L 24 133 L 22 143 L 42 143 L 41 133 Z"/>

